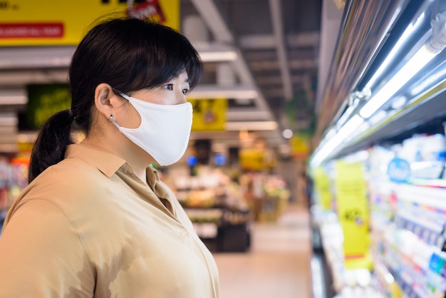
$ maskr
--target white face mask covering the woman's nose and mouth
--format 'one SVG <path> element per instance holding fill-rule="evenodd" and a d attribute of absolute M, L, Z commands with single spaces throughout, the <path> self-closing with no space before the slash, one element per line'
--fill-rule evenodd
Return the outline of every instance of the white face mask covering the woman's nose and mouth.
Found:
<path fill-rule="evenodd" d="M 155 158 L 160 165 L 172 165 L 185 154 L 192 127 L 192 104 L 159 105 L 126 96 L 140 114 L 138 128 L 123 128 L 113 124 L 123 135 Z"/>

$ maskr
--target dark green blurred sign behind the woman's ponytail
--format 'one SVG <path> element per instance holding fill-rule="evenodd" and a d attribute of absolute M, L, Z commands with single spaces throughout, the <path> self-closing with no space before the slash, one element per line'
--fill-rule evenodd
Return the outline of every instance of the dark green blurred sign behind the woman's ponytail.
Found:
<path fill-rule="evenodd" d="M 28 85 L 26 122 L 31 128 L 41 128 L 51 115 L 71 107 L 68 84 Z"/>

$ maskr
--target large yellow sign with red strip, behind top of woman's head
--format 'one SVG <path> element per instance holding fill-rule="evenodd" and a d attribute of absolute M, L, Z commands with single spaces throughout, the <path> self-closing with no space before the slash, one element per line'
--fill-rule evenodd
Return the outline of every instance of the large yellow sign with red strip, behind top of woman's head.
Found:
<path fill-rule="evenodd" d="M 180 29 L 180 0 L 135 0 L 131 7 Z M 93 21 L 125 12 L 126 0 L 0 0 L 0 46 L 76 45 Z"/>

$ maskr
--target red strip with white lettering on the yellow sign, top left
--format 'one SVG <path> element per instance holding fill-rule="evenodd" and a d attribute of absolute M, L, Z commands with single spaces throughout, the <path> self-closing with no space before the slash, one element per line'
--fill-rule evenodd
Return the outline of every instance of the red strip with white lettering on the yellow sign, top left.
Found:
<path fill-rule="evenodd" d="M 0 38 L 61 38 L 62 23 L 0 24 Z"/>

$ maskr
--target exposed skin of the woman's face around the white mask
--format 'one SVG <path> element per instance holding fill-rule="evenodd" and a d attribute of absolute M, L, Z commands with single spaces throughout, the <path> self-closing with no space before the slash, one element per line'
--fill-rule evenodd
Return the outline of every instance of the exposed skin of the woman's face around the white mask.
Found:
<path fill-rule="evenodd" d="M 158 105 L 177 105 L 187 102 L 186 95 L 189 91 L 189 78 L 187 73 L 183 72 L 160 87 L 134 91 L 128 96 Z M 126 99 L 124 101 L 127 102 Z M 138 128 L 141 123 L 140 114 L 130 103 L 125 103 L 124 107 L 125 113 L 118 115 L 118 124 L 125 128 Z"/>

